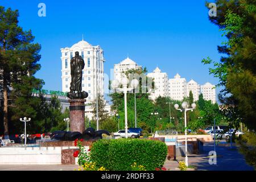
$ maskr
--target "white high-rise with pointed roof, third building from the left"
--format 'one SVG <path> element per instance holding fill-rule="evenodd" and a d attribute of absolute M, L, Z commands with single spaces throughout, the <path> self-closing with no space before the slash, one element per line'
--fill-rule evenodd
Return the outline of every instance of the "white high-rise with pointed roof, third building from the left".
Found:
<path fill-rule="evenodd" d="M 159 96 L 168 97 L 168 75 L 167 73 L 162 73 L 161 70 L 156 67 L 153 73 L 148 73 L 148 77 L 154 79 L 155 90 L 151 92 L 150 99 L 155 100 Z"/>

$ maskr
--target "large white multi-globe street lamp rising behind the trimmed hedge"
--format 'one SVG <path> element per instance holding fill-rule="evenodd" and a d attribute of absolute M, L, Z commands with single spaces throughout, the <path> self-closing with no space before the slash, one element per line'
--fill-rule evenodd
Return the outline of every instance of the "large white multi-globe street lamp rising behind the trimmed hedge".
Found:
<path fill-rule="evenodd" d="M 135 82 L 135 83 L 136 83 L 136 81 L 134 81 L 134 80 L 132 80 L 132 82 Z M 137 83 L 138 83 L 138 82 L 137 82 Z M 117 90 L 123 92 L 124 95 L 125 95 L 125 138 L 128 138 L 127 92 L 130 91 L 130 90 L 133 90 L 134 87 L 132 87 L 132 88 L 127 88 L 128 84 L 129 84 L 129 80 L 128 80 L 128 78 L 126 78 L 126 77 L 122 78 L 121 84 L 122 84 L 123 88 L 119 88 L 120 83 L 119 83 L 118 80 L 113 80 L 113 81 L 112 81 L 112 88 L 117 89 Z M 135 86 L 137 87 L 138 85 L 135 85 Z"/>

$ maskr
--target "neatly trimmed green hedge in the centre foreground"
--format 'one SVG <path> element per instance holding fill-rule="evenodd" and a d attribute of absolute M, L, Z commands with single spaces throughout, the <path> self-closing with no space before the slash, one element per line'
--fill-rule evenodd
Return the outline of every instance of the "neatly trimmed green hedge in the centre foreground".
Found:
<path fill-rule="evenodd" d="M 110 171 L 130 171 L 134 162 L 147 171 L 154 171 L 163 166 L 166 156 L 164 142 L 147 139 L 102 139 L 94 142 L 90 151 L 96 166 L 104 166 Z"/>

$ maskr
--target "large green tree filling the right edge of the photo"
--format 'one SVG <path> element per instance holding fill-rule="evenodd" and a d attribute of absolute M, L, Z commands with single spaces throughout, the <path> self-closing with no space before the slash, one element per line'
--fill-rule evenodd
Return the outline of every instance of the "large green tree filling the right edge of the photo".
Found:
<path fill-rule="evenodd" d="M 208 57 L 203 63 L 214 64 L 209 72 L 219 78 L 217 86 L 224 86 L 219 95 L 225 105 L 223 114 L 231 122 L 240 118 L 256 129 L 256 4 L 251 0 L 217 0 L 216 4 L 218 15 L 209 19 L 228 39 L 218 47 L 226 56 L 220 62 Z"/>

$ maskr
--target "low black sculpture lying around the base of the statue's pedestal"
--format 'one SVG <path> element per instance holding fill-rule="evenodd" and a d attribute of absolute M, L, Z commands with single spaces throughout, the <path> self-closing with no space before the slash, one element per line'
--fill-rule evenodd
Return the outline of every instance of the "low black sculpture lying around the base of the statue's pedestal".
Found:
<path fill-rule="evenodd" d="M 60 141 L 73 141 L 75 139 L 97 140 L 102 139 L 102 134 L 110 135 L 106 130 L 95 131 L 93 128 L 88 128 L 82 134 L 80 132 L 71 131 L 54 131 L 50 137 L 53 140 Z"/>

